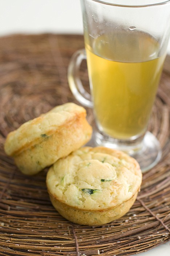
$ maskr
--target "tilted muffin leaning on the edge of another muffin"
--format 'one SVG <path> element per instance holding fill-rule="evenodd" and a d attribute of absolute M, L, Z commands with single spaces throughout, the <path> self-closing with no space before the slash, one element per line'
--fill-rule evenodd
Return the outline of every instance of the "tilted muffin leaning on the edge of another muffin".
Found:
<path fill-rule="evenodd" d="M 4 150 L 21 172 L 33 175 L 82 147 L 91 135 L 86 110 L 66 103 L 10 132 Z"/>

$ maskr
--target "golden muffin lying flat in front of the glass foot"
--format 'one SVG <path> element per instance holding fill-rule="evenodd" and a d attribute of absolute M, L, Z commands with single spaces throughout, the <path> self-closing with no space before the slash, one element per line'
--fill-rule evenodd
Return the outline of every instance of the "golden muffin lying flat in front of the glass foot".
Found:
<path fill-rule="evenodd" d="M 56 210 L 83 225 L 102 225 L 123 216 L 141 182 L 135 159 L 105 147 L 82 147 L 54 163 L 46 176 Z"/>

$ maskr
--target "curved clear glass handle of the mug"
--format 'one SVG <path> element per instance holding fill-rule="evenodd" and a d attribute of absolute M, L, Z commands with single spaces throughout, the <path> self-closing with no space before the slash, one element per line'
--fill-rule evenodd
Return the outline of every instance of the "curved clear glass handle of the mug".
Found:
<path fill-rule="evenodd" d="M 85 49 L 78 50 L 73 54 L 68 66 L 68 83 L 76 100 L 88 108 L 93 108 L 91 95 L 86 92 L 79 77 L 81 62 L 84 59 L 86 59 Z"/>

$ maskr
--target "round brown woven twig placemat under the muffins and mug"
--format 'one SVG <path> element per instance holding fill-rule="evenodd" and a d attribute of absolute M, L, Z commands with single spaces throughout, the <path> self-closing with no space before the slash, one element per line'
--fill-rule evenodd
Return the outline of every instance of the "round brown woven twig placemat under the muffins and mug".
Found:
<path fill-rule="evenodd" d="M 50 203 L 47 170 L 27 177 L 4 153 L 9 131 L 56 105 L 76 102 L 67 67 L 74 51 L 83 47 L 78 35 L 0 38 L 0 255 L 131 255 L 170 240 L 169 57 L 149 123 L 161 143 L 162 159 L 143 175 L 137 200 L 119 220 L 98 227 L 65 220 Z M 85 64 L 81 76 L 86 86 Z"/>

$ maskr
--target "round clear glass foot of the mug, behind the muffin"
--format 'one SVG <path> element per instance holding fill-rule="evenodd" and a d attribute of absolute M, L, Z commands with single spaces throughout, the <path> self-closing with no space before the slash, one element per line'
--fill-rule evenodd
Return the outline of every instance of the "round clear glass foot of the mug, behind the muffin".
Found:
<path fill-rule="evenodd" d="M 142 142 L 133 146 L 102 140 L 98 137 L 98 133 L 93 132 L 92 139 L 86 144 L 86 146 L 104 146 L 124 151 L 137 160 L 142 172 L 146 172 L 153 168 L 159 162 L 162 156 L 159 141 L 151 132 L 146 132 Z"/>

